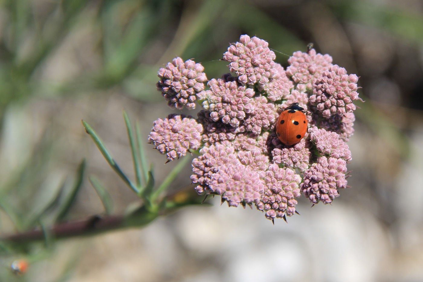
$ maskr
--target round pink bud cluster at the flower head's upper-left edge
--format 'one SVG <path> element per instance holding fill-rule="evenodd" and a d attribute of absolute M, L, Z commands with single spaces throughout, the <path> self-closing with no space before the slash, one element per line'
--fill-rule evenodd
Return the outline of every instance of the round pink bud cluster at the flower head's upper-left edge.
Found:
<path fill-rule="evenodd" d="M 183 61 L 176 57 L 165 68 L 160 68 L 157 89 L 162 92 L 171 108 L 179 110 L 184 107 L 195 109 L 195 101 L 205 94 L 204 82 L 207 81 L 204 67 L 195 61 Z"/>

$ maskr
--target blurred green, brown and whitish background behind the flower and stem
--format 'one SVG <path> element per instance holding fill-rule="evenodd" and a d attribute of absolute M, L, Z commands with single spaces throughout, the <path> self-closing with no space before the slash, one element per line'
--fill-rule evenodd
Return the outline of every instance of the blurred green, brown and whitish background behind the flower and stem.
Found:
<path fill-rule="evenodd" d="M 188 208 L 142 230 L 44 243 L 0 257 L 0 281 L 422 281 L 423 2 L 419 0 L 0 0 L 0 232 L 38 224 L 69 193 L 82 158 L 122 213 L 137 197 L 80 120 L 133 176 L 122 109 L 152 122 L 172 113 L 157 70 L 180 56 L 209 79 L 241 34 L 285 53 L 319 53 L 360 76 L 365 103 L 350 139 L 351 189 L 333 206 L 299 201 L 269 224 L 258 211 Z M 287 55 L 276 52 L 287 66 Z M 195 111 L 185 112 L 193 116 Z M 157 179 L 175 163 L 148 150 Z M 190 184 L 190 168 L 174 189 Z M 85 177 L 68 219 L 103 213 Z M 38 222 L 38 223 L 37 223 Z M 46 219 L 48 224 L 49 219 Z M 18 248 L 19 249 L 19 248 Z M 46 251 L 47 250 L 47 251 Z M 31 261 L 27 274 L 10 263 Z"/>

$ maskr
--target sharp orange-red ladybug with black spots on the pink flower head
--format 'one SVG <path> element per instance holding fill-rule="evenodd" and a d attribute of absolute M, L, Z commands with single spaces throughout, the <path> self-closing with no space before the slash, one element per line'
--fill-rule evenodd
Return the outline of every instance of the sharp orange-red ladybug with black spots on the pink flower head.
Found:
<path fill-rule="evenodd" d="M 302 111 L 304 108 L 298 103 L 293 103 L 280 113 L 276 123 L 276 135 L 283 144 L 297 144 L 307 132 L 308 123 Z"/>

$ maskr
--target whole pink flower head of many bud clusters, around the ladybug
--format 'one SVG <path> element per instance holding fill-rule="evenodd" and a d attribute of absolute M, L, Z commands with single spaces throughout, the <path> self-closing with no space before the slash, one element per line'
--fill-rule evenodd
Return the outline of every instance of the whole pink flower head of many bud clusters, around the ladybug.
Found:
<path fill-rule="evenodd" d="M 329 204 L 348 187 L 346 142 L 354 133 L 354 102 L 361 101 L 357 75 L 313 44 L 295 52 L 286 69 L 275 58 L 266 41 L 242 35 L 223 54 L 231 73 L 209 80 L 208 89 L 201 64 L 175 58 L 159 70 L 157 88 L 172 108 L 197 103 L 203 110 L 197 119 L 157 119 L 149 135 L 168 160 L 199 153 L 191 175 L 198 194 L 219 195 L 233 207 L 254 205 L 272 221 L 297 213 L 301 194 L 313 205 Z M 306 132 L 288 146 L 275 123 L 294 103 L 303 108 Z"/>

